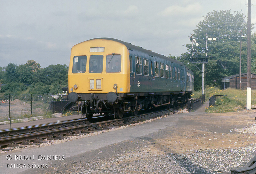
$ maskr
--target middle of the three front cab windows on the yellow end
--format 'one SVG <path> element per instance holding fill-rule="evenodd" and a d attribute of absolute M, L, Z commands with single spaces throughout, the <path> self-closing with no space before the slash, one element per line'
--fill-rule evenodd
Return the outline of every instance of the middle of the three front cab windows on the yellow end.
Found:
<path fill-rule="evenodd" d="M 103 55 L 91 55 L 89 63 L 90 73 L 102 73 Z"/>

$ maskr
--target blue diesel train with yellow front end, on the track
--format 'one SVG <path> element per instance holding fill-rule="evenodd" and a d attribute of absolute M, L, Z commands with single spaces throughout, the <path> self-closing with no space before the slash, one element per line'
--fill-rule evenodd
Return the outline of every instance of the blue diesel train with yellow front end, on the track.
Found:
<path fill-rule="evenodd" d="M 68 99 L 82 115 L 114 114 L 186 103 L 193 73 L 181 62 L 112 38 L 95 38 L 71 49 Z"/>

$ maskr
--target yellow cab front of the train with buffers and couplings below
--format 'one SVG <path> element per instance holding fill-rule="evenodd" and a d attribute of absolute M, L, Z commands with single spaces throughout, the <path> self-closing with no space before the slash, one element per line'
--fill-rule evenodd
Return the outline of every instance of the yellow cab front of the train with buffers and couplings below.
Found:
<path fill-rule="evenodd" d="M 129 52 L 124 44 L 100 38 L 72 47 L 68 99 L 76 103 L 82 115 L 91 117 L 118 108 L 118 99 L 129 92 L 129 87 Z"/>

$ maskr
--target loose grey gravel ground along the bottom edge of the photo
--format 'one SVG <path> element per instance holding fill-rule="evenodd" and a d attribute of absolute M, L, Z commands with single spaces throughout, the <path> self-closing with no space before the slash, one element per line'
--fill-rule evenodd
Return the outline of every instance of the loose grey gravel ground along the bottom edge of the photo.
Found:
<path fill-rule="evenodd" d="M 154 154 L 147 147 L 142 151 L 117 155 L 114 158 L 71 163 L 73 174 L 210 174 L 230 173 L 243 167 L 255 154 L 255 145 L 237 149 L 204 149 L 186 154 Z M 99 152 L 103 153 L 103 152 Z"/>

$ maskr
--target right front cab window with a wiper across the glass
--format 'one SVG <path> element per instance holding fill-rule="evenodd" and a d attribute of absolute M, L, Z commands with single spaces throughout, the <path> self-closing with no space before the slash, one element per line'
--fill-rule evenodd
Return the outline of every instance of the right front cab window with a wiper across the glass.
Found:
<path fill-rule="evenodd" d="M 106 59 L 106 72 L 107 73 L 119 73 L 121 72 L 121 55 L 109 54 Z"/>

